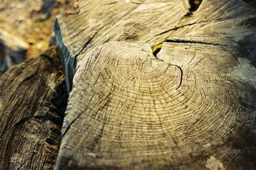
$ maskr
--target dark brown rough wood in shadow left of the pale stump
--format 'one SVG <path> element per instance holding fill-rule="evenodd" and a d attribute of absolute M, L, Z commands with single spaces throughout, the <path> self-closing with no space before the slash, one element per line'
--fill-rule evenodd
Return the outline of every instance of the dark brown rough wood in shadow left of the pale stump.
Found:
<path fill-rule="evenodd" d="M 53 169 L 67 100 L 60 66 L 53 47 L 1 76 L 0 169 Z"/>

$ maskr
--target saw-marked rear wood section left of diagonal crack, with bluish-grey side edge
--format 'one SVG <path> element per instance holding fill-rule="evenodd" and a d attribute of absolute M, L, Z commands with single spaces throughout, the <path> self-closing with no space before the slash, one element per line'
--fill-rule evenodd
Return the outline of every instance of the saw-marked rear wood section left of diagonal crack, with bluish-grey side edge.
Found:
<path fill-rule="evenodd" d="M 56 20 L 54 30 L 63 52 L 68 91 L 76 72 L 74 63 L 83 58 L 83 53 L 108 41 L 147 42 L 155 46 L 166 39 L 156 35 L 176 27 L 188 13 L 177 0 L 127 2 L 79 1 L 79 13 L 62 15 Z"/>

